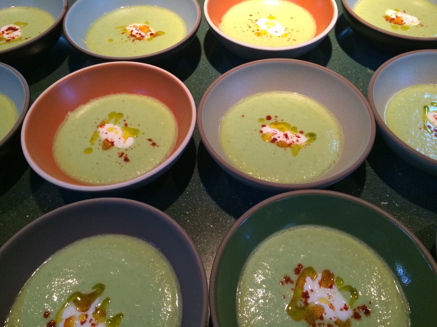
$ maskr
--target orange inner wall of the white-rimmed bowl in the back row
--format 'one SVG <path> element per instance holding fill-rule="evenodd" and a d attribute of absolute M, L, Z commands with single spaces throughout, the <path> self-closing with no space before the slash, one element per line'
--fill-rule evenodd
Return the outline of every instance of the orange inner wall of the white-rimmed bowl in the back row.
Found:
<path fill-rule="evenodd" d="M 206 10 L 208 10 L 208 16 L 211 19 L 215 27 L 218 28 L 218 24 L 222 20 L 223 15 L 232 6 L 243 0 L 208 0 Z M 312 14 L 314 20 L 316 20 L 317 31 L 316 35 L 322 34 L 323 31 L 329 26 L 333 20 L 335 13 L 334 4 L 331 0 L 316 0 L 316 1 L 306 1 L 306 0 L 290 0 L 296 3 L 302 8 L 305 8 Z"/>

